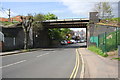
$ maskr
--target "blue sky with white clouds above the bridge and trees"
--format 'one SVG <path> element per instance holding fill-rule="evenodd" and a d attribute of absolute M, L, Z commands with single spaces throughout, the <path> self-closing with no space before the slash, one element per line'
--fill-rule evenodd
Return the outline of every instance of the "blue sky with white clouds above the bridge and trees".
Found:
<path fill-rule="evenodd" d="M 58 19 L 89 18 L 89 12 L 93 12 L 96 3 L 98 2 L 95 0 L 85 2 L 84 0 L 3 0 L 0 2 L 0 17 L 8 17 L 10 9 L 11 17 L 49 12 L 55 14 Z M 118 15 L 117 4 L 117 0 L 110 2 L 115 17 Z"/>

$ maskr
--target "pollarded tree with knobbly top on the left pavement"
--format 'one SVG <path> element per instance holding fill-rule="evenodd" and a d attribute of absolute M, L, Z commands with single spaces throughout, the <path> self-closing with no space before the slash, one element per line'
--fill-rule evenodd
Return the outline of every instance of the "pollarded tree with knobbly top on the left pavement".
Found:
<path fill-rule="evenodd" d="M 21 16 L 21 20 L 22 20 L 22 27 L 23 27 L 23 30 L 25 33 L 24 49 L 28 49 L 29 32 L 30 32 L 30 29 L 32 27 L 33 16 L 31 16 L 30 14 L 28 16 L 25 16 L 25 17 Z"/>

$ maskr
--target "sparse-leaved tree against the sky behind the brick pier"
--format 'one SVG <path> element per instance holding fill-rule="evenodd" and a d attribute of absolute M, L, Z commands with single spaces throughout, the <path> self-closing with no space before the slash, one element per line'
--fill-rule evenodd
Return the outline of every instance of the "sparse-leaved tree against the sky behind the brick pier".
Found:
<path fill-rule="evenodd" d="M 112 7 L 108 2 L 100 2 L 95 4 L 94 11 L 98 12 L 101 19 L 112 18 Z"/>

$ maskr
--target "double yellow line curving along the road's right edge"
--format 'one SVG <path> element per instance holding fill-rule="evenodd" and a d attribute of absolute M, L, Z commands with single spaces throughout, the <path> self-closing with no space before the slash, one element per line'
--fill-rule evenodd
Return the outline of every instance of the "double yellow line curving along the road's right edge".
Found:
<path fill-rule="evenodd" d="M 76 78 L 78 70 L 79 70 L 79 65 L 80 65 L 79 61 L 80 61 L 80 59 L 79 59 L 79 53 L 78 53 L 78 50 L 76 49 L 76 63 L 75 63 L 74 69 L 72 71 L 72 74 L 71 74 L 69 80 L 74 80 Z"/>

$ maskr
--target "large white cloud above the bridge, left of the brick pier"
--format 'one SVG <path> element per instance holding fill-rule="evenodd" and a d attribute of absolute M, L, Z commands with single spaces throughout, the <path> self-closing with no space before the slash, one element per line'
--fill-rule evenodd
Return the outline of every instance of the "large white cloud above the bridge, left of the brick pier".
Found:
<path fill-rule="evenodd" d="M 74 14 L 79 16 L 88 17 L 89 12 L 93 11 L 95 3 L 86 2 L 67 2 L 63 0 L 63 5 L 67 6 L 68 9 Z"/>

